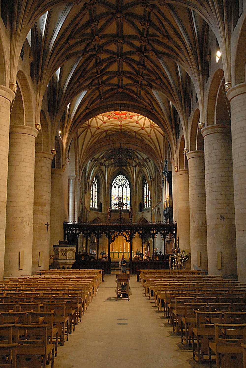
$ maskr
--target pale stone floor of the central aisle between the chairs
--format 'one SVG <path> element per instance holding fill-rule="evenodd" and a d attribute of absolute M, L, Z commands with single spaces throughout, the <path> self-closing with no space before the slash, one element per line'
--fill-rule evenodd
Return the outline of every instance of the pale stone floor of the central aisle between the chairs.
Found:
<path fill-rule="evenodd" d="M 58 347 L 54 368 L 203 368 L 181 344 L 163 314 L 130 277 L 130 301 L 115 297 L 115 276 L 104 276 L 82 322 L 64 346 Z"/>

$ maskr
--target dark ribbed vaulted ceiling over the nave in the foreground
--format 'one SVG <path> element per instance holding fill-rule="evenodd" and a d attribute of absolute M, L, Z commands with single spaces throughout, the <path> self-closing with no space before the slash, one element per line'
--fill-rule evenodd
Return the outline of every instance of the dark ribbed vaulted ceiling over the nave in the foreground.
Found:
<path fill-rule="evenodd" d="M 21 29 L 13 55 L 32 27 L 37 114 L 49 85 L 53 136 L 60 127 L 65 151 L 78 128 L 81 135 L 120 105 L 158 124 L 174 151 L 177 123 L 188 137 L 190 82 L 202 101 L 208 27 L 225 40 L 229 10 L 220 1 L 12 2 L 13 29 Z"/>

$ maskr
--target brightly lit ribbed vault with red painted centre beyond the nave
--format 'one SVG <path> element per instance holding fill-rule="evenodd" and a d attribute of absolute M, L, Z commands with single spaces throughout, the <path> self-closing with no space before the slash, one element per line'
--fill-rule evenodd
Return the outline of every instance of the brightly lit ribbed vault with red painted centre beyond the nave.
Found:
<path fill-rule="evenodd" d="M 140 139 L 144 145 L 155 152 L 160 161 L 163 160 L 164 134 L 154 121 L 143 115 L 128 111 L 111 111 L 91 118 L 78 129 L 80 162 L 83 162 L 86 152 L 90 151 L 92 147 L 94 147 L 93 151 L 95 152 L 96 146 L 100 144 L 100 139 L 113 139 L 116 134 L 120 134 L 119 139 L 121 139 L 121 136 L 127 136 L 129 142 L 131 140 L 134 141 L 136 138 Z M 120 142 L 121 140 L 119 144 Z M 133 151 L 129 149 L 128 151 L 123 153 L 120 147 L 118 150 L 114 150 L 115 160 L 119 160 L 121 156 L 122 160 L 124 159 L 125 166 L 129 165 L 130 162 L 134 165 L 133 162 L 136 162 L 139 154 L 133 154 Z M 101 164 L 108 165 L 108 162 L 114 160 L 113 156 L 110 157 L 110 152 L 111 150 L 108 151 L 107 155 L 98 158 Z M 137 160 L 140 163 L 142 158 L 139 156 Z M 143 165 L 143 162 L 141 164 Z"/>

